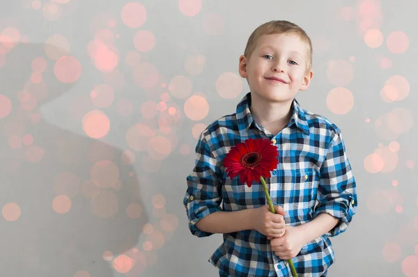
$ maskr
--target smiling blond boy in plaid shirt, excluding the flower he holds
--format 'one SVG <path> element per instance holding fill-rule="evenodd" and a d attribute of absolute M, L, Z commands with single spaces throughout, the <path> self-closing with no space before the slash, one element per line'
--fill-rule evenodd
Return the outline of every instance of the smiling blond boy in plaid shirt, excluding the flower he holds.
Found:
<path fill-rule="evenodd" d="M 355 214 L 356 184 L 340 129 L 295 100 L 313 77 L 311 61 L 311 40 L 299 26 L 259 26 L 239 63 L 250 93 L 196 145 L 183 203 L 193 235 L 224 234 L 209 259 L 219 276 L 291 276 L 288 259 L 298 276 L 327 276 L 334 262 L 329 237 L 344 232 Z M 265 178 L 276 214 L 261 184 L 231 180 L 222 166 L 231 147 L 249 138 L 278 147 L 279 165 Z"/>

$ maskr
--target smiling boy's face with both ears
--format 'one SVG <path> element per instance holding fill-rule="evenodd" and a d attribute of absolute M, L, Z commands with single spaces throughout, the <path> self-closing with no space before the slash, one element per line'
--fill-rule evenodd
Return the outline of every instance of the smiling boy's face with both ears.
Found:
<path fill-rule="evenodd" d="M 308 45 L 293 33 L 262 35 L 250 57 L 240 57 L 240 75 L 251 93 L 270 102 L 291 102 L 306 90 L 313 72 L 307 72 Z"/>

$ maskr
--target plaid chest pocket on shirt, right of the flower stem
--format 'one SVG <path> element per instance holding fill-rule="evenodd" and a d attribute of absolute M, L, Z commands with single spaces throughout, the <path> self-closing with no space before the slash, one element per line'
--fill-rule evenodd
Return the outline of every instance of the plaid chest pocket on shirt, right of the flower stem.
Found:
<path fill-rule="evenodd" d="M 295 171 L 292 175 L 292 185 L 289 203 L 296 209 L 312 207 L 316 200 L 318 177 L 313 169 Z"/>

